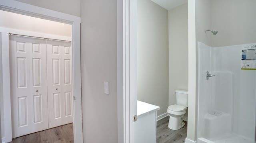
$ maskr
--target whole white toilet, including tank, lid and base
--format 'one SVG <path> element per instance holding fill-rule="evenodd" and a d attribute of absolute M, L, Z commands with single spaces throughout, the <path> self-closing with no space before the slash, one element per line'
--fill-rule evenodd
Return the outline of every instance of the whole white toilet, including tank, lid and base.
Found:
<path fill-rule="evenodd" d="M 170 114 L 168 127 L 173 130 L 180 129 L 185 125 L 182 117 L 186 113 L 188 107 L 188 91 L 175 90 L 176 104 L 170 105 L 167 112 Z"/>

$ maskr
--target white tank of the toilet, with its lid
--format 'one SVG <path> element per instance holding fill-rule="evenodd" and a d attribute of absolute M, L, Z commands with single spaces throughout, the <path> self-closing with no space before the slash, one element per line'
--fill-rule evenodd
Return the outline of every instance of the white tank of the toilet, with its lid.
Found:
<path fill-rule="evenodd" d="M 187 90 L 175 90 L 176 103 L 178 105 L 188 107 L 188 91 Z"/>

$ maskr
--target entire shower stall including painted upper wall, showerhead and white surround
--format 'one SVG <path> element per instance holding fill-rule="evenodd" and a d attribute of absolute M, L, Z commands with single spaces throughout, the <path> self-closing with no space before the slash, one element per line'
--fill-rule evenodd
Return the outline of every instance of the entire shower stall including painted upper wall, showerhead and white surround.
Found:
<path fill-rule="evenodd" d="M 255 5 L 196 0 L 197 143 L 256 143 Z"/>

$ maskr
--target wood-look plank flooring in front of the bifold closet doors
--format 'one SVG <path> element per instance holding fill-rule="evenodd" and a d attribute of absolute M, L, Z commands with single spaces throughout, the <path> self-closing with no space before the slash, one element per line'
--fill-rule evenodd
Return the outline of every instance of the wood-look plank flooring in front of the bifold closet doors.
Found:
<path fill-rule="evenodd" d="M 74 143 L 73 123 L 24 135 L 10 143 Z"/>

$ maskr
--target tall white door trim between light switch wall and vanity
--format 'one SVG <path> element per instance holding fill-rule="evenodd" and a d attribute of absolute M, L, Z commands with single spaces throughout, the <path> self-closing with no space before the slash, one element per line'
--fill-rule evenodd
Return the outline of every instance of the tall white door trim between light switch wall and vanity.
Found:
<path fill-rule="evenodd" d="M 134 143 L 137 113 L 136 0 L 117 1 L 118 143 Z"/>

